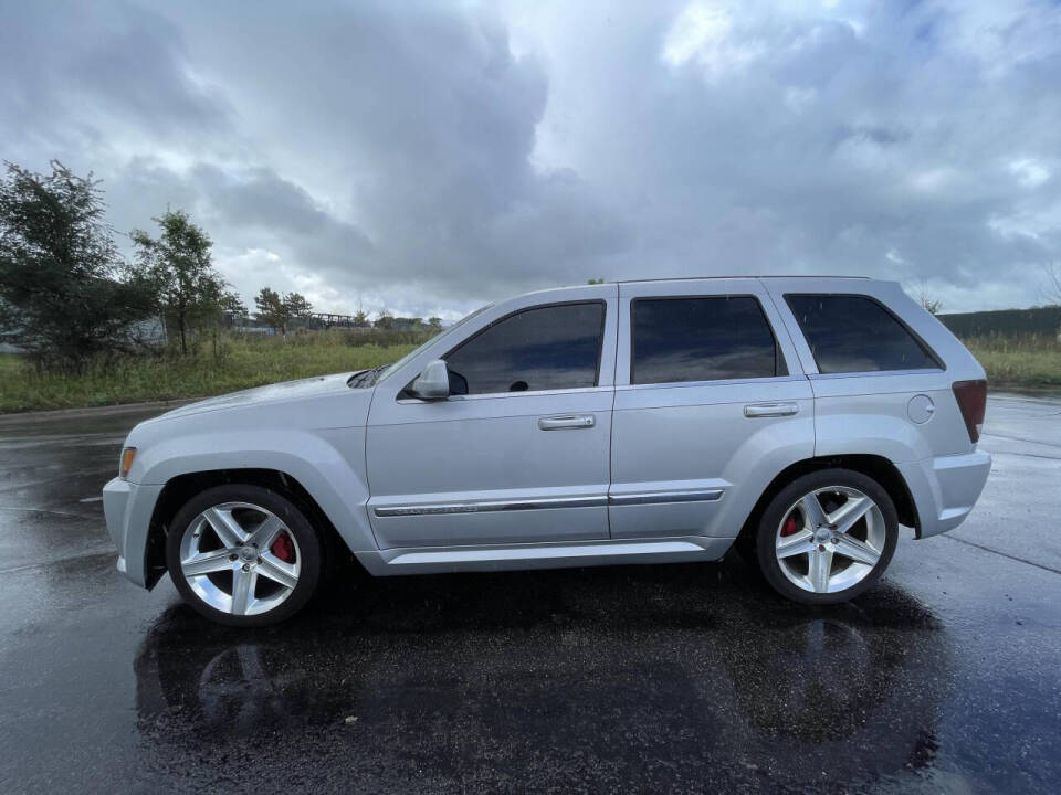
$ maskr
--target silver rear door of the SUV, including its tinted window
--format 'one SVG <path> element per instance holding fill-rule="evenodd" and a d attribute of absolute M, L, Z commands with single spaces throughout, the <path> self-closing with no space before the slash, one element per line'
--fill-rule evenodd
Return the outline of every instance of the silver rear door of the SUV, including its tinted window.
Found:
<path fill-rule="evenodd" d="M 733 537 L 769 480 L 813 454 L 813 401 L 758 279 L 623 284 L 612 538 Z"/>

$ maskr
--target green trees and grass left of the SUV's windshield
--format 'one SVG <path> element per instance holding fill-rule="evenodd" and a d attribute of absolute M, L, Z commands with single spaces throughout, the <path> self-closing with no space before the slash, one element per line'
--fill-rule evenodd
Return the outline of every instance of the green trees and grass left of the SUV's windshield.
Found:
<path fill-rule="evenodd" d="M 321 321 L 353 321 L 349 330 L 309 330 L 305 297 L 263 287 L 255 319 L 281 333 L 225 331 L 246 327 L 246 307 L 188 213 L 154 219 L 157 237 L 133 230 L 126 262 L 99 182 L 51 166 L 7 163 L 0 174 L 0 342 L 22 351 L 0 354 L 0 412 L 203 398 L 372 368 L 442 327 L 385 312 L 369 329 L 358 311 Z"/>

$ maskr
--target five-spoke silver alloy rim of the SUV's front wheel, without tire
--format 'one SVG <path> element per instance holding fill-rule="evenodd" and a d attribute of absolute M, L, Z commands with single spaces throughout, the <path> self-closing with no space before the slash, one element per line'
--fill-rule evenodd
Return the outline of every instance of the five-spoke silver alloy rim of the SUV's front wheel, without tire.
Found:
<path fill-rule="evenodd" d="M 298 584 L 302 555 L 275 513 L 249 502 L 208 508 L 180 540 L 180 571 L 204 603 L 232 615 L 258 615 Z"/>

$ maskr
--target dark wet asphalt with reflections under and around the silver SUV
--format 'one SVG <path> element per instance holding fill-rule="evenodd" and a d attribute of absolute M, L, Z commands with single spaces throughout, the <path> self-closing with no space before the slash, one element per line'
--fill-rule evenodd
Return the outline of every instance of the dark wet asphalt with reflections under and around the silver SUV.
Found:
<path fill-rule="evenodd" d="M 0 418 L 0 792 L 1061 792 L 1061 399 L 970 519 L 827 610 L 717 564 L 371 580 L 213 626 L 114 569 L 158 407 Z"/>

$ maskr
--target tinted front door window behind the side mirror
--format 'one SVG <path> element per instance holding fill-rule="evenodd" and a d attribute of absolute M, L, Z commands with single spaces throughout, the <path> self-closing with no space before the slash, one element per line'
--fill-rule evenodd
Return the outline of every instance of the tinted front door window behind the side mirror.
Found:
<path fill-rule="evenodd" d="M 600 301 L 511 315 L 445 357 L 451 391 L 489 394 L 595 386 L 603 331 Z"/>

